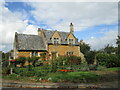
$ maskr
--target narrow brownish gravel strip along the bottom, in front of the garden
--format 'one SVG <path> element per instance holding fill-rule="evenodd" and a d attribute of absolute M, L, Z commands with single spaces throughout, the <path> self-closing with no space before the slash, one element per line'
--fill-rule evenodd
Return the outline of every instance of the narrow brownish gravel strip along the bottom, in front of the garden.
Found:
<path fill-rule="evenodd" d="M 4 80 L 2 87 L 17 88 L 119 88 L 118 81 L 104 83 L 23 83 L 13 80 Z"/>

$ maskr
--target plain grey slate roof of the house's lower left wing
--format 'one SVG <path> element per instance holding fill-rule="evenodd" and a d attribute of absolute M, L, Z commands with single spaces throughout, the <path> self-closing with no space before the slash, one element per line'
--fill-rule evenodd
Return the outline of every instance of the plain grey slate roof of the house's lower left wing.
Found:
<path fill-rule="evenodd" d="M 45 41 L 39 35 L 16 34 L 18 50 L 47 50 Z"/>

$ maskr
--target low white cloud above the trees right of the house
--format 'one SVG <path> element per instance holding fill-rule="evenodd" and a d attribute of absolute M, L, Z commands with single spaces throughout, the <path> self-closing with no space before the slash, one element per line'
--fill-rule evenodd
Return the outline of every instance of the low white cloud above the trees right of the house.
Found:
<path fill-rule="evenodd" d="M 116 37 L 118 35 L 118 31 L 110 30 L 109 32 L 105 32 L 103 37 L 92 37 L 88 40 L 85 40 L 91 46 L 92 50 L 99 50 L 104 48 L 107 44 L 116 46 Z"/>

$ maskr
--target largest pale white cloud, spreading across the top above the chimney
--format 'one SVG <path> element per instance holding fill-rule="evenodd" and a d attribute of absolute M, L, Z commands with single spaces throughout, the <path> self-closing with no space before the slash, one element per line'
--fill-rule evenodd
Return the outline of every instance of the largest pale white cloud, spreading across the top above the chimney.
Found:
<path fill-rule="evenodd" d="M 100 24 L 111 25 L 118 20 L 118 3 L 28 3 L 35 8 L 32 15 L 38 22 L 44 22 L 58 30 L 69 30 L 73 22 L 75 30 L 83 30 Z"/>

